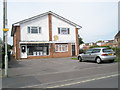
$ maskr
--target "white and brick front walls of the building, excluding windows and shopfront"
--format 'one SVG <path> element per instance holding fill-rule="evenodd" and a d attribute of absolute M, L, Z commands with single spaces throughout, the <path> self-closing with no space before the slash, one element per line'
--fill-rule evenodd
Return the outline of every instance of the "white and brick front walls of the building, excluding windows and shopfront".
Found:
<path fill-rule="evenodd" d="M 41 34 L 29 34 L 27 31 L 28 26 L 40 26 L 42 28 Z M 69 35 L 58 34 L 58 27 L 70 28 Z M 35 19 L 17 27 L 14 34 L 14 48 L 16 51 L 16 59 L 21 58 L 20 54 L 20 41 L 54 41 L 54 36 L 58 36 L 58 42 L 69 43 L 68 52 L 55 52 L 55 44 L 50 44 L 50 55 L 48 56 L 28 56 L 27 58 L 47 58 L 47 57 L 69 57 L 72 56 L 72 44 L 76 47 L 76 55 L 78 55 L 78 28 L 52 16 L 44 16 L 39 19 Z"/>

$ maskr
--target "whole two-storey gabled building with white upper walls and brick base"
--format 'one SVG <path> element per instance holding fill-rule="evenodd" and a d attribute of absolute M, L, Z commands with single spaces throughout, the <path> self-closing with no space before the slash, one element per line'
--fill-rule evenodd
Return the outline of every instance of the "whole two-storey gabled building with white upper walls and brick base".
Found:
<path fill-rule="evenodd" d="M 78 55 L 80 28 L 51 11 L 14 23 L 14 56 L 22 59 Z"/>

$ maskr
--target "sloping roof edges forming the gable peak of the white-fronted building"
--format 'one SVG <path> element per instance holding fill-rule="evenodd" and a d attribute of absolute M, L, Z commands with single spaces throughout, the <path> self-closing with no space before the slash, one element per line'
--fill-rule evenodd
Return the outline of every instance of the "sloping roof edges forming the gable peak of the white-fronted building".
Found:
<path fill-rule="evenodd" d="M 29 22 L 29 21 L 34 20 L 34 19 L 37 19 L 37 18 L 41 18 L 41 17 L 46 16 L 46 15 L 48 15 L 48 14 L 52 14 L 53 16 L 55 16 L 55 17 L 57 17 L 57 18 L 65 21 L 65 22 L 67 22 L 67 23 L 69 23 L 69 24 L 71 24 L 71 25 L 73 25 L 73 26 L 75 26 L 75 27 L 82 28 L 80 25 L 78 25 L 78 24 L 76 24 L 76 23 L 74 23 L 74 22 L 72 22 L 72 21 L 70 21 L 70 20 L 68 20 L 68 19 L 66 19 L 66 18 L 64 18 L 64 17 L 56 14 L 56 13 L 53 13 L 52 11 L 48 11 L 48 12 L 46 12 L 46 13 L 42 13 L 42 14 L 39 14 L 39 15 L 37 15 L 37 16 L 33 16 L 33 17 L 31 17 L 31 18 L 28 18 L 28 19 L 25 19 L 25 20 L 16 22 L 16 23 L 13 24 L 13 26 L 19 26 L 20 24 L 23 24 L 23 23 L 25 23 L 25 22 Z"/>

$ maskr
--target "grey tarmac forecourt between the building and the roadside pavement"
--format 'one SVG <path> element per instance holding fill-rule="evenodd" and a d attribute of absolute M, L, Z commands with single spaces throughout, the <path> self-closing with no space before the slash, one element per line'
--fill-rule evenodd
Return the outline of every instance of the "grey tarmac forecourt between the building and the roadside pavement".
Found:
<path fill-rule="evenodd" d="M 110 63 L 112 64 L 112 63 Z M 86 68 L 96 68 L 109 65 L 108 63 L 96 64 L 94 62 L 79 62 L 67 58 L 47 58 L 13 60 L 9 65 L 9 76 L 34 76 L 61 72 L 77 71 Z"/>

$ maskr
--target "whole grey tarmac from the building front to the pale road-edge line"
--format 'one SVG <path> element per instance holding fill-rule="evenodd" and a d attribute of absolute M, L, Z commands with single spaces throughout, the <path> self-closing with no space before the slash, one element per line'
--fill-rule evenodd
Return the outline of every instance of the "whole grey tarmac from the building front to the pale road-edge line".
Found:
<path fill-rule="evenodd" d="M 3 70 L 4 71 L 4 70 Z M 46 88 L 118 73 L 118 63 L 96 64 L 68 58 L 12 60 L 3 88 Z M 117 81 L 116 81 L 117 82 Z"/>

